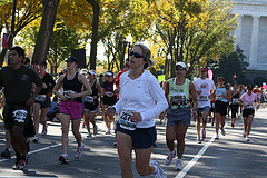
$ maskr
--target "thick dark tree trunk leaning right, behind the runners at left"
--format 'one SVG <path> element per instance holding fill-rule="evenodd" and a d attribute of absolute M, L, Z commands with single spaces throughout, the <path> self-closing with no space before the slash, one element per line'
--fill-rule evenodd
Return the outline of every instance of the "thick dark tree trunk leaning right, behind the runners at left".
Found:
<path fill-rule="evenodd" d="M 57 16 L 57 8 L 60 0 L 44 0 L 42 1 L 43 12 L 40 30 L 37 36 L 37 43 L 32 60 L 44 61 L 47 59 L 48 49 L 50 46 L 53 24 Z"/>

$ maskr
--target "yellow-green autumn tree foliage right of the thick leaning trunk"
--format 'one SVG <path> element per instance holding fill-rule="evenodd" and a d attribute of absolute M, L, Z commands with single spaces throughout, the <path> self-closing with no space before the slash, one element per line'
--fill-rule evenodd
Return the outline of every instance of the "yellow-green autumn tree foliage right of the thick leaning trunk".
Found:
<path fill-rule="evenodd" d="M 96 69 L 98 41 L 106 43 L 107 55 L 112 52 L 112 60 L 121 68 L 122 55 L 129 48 L 121 42 L 129 34 L 134 42 L 148 41 L 152 57 L 158 61 L 156 69 L 164 66 L 164 71 L 169 77 L 174 75 L 174 65 L 177 61 L 190 63 L 189 69 L 192 72 L 208 60 L 216 60 L 220 55 L 233 51 L 234 39 L 230 31 L 236 28 L 237 21 L 236 17 L 230 16 L 230 3 L 224 1 L 58 0 L 58 2 L 55 18 L 62 20 L 71 30 L 83 31 L 86 33 L 83 38 L 91 40 L 89 62 L 91 69 Z M 46 18 L 43 13 L 42 18 Z M 48 33 L 46 30 L 41 26 L 39 33 Z M 116 40 L 118 37 L 122 40 Z M 43 36 L 41 39 L 46 41 L 47 38 L 49 37 Z M 41 47 L 40 43 L 37 40 L 36 52 Z M 111 43 L 113 46 L 110 46 Z M 120 52 L 116 52 L 118 50 Z M 46 52 L 41 53 L 39 50 L 38 53 L 47 58 Z M 40 57 L 37 58 L 39 59 Z"/>

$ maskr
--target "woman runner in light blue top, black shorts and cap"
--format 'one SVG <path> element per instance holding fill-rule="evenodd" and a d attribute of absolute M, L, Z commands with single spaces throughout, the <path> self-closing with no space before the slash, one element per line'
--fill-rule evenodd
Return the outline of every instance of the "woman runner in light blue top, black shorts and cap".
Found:
<path fill-rule="evenodd" d="M 218 87 L 215 89 L 215 118 L 216 118 L 216 138 L 219 139 L 219 123 L 221 135 L 225 136 L 225 119 L 227 113 L 228 102 L 231 100 L 231 91 L 225 87 L 225 78 L 218 77 Z"/>

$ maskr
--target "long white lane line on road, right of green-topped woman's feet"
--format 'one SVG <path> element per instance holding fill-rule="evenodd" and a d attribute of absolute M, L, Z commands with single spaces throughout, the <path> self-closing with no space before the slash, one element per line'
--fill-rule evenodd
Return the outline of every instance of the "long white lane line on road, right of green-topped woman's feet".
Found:
<path fill-rule="evenodd" d="M 228 122 L 225 125 L 225 128 L 227 125 L 228 125 Z M 208 147 L 214 142 L 215 137 L 216 137 L 216 134 L 202 147 L 202 149 L 200 151 L 198 151 L 198 154 L 190 160 L 190 162 L 188 162 L 187 166 L 184 169 L 181 169 L 181 171 L 175 178 L 182 178 L 184 176 L 186 176 L 186 174 L 192 168 L 192 166 L 198 161 L 199 158 L 201 158 L 201 156 L 205 154 L 205 151 L 208 149 Z"/>

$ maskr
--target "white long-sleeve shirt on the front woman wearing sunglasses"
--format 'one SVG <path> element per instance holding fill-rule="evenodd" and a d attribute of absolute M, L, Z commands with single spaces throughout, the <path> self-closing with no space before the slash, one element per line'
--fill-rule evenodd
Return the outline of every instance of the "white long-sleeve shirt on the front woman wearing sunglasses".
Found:
<path fill-rule="evenodd" d="M 119 101 L 113 106 L 116 113 L 122 109 L 140 112 L 142 121 L 137 123 L 137 128 L 152 127 L 155 117 L 168 108 L 164 90 L 148 70 L 135 80 L 128 75 L 129 71 L 120 76 Z"/>

